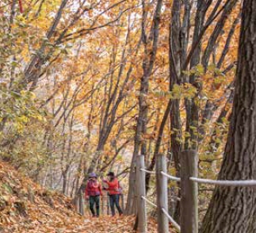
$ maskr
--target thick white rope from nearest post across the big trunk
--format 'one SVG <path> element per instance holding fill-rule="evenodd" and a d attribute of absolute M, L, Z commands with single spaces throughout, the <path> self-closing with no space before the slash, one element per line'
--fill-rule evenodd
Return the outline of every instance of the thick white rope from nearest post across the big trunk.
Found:
<path fill-rule="evenodd" d="M 220 186 L 256 186 L 255 180 L 244 180 L 244 181 L 220 181 L 220 180 L 210 180 L 202 178 L 189 178 L 190 181 L 194 181 L 201 184 L 209 185 L 220 185 Z"/>

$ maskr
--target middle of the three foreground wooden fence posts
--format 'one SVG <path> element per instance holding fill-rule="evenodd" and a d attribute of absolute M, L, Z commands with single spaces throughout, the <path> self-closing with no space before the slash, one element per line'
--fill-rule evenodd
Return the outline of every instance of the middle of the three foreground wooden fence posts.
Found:
<path fill-rule="evenodd" d="M 158 155 L 155 162 L 155 174 L 159 233 L 169 232 L 169 220 L 162 212 L 162 208 L 168 212 L 167 178 L 161 174 L 162 171 L 166 173 L 166 170 L 166 157 L 164 155 Z"/>

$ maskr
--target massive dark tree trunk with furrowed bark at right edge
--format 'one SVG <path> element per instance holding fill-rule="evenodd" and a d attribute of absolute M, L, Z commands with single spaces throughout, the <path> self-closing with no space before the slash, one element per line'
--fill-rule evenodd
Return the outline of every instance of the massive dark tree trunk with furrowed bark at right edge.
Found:
<path fill-rule="evenodd" d="M 256 2 L 243 2 L 231 126 L 220 180 L 256 179 Z M 256 232 L 255 188 L 216 187 L 201 233 Z"/>

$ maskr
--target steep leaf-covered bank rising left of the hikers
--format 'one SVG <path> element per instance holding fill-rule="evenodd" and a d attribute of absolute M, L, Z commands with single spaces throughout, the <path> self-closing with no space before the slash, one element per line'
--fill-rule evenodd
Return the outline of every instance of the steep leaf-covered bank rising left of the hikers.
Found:
<path fill-rule="evenodd" d="M 0 214 L 0 232 L 55 232 L 53 226 L 61 230 L 82 223 L 70 199 L 42 189 L 3 162 L 0 162 Z"/>

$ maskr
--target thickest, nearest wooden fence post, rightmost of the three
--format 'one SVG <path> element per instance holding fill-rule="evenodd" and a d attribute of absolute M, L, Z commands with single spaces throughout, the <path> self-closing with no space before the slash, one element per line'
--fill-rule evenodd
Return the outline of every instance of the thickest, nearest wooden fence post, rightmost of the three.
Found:
<path fill-rule="evenodd" d="M 198 185 L 190 181 L 197 178 L 197 151 L 181 152 L 181 233 L 198 232 Z"/>

